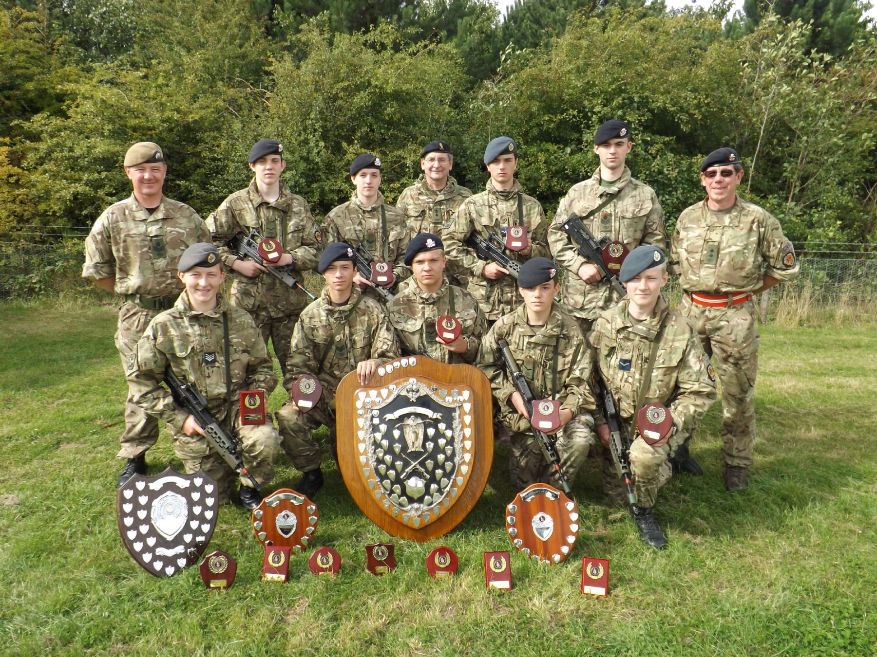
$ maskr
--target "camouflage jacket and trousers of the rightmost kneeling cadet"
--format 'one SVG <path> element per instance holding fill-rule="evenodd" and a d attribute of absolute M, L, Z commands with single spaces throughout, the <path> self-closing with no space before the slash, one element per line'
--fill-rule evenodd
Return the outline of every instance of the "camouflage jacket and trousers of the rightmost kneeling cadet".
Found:
<path fill-rule="evenodd" d="M 588 338 L 595 350 L 600 377 L 615 399 L 622 438 L 626 442 L 639 410 L 637 395 L 652 343 L 664 324 L 644 404 L 657 402 L 667 406 L 676 430 L 664 445 L 652 447 L 640 436 L 631 444 L 631 472 L 637 504 L 651 508 L 658 489 L 671 475 L 667 457 L 688 438 L 695 423 L 716 401 L 716 381 L 709 371 L 709 358 L 703 352 L 697 332 L 679 311 L 670 310 L 666 297 L 660 296 L 652 316 L 645 321 L 632 319 L 627 307 L 628 300 L 624 299 L 603 311 Z M 603 423 L 602 408 L 597 414 L 596 421 Z M 620 494 L 623 484 L 617 477 L 609 449 L 603 449 L 603 482 L 610 498 L 624 499 Z"/>

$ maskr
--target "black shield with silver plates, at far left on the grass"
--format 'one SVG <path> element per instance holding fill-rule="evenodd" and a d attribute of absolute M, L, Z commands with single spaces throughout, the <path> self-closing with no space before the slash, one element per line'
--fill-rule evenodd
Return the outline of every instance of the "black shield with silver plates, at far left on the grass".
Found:
<path fill-rule="evenodd" d="M 217 524 L 217 485 L 198 471 L 134 475 L 117 492 L 118 531 L 150 575 L 170 577 L 196 562 Z"/>

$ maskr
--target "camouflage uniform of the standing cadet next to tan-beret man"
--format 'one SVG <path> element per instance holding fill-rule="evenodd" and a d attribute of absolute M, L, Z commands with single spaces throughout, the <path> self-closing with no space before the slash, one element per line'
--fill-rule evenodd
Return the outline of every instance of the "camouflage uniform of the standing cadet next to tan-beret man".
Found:
<path fill-rule="evenodd" d="M 251 229 L 256 229 L 262 237 L 280 242 L 283 251 L 292 255 L 296 272 L 310 272 L 317 266 L 319 244 L 308 201 L 290 192 L 289 186 L 281 181 L 280 196 L 269 203 L 262 198 L 253 179 L 250 187 L 222 201 L 216 212 L 207 217 L 207 228 L 214 244 L 223 244 L 218 248 L 232 276 L 232 305 L 244 308 L 253 316 L 266 344 L 268 337 L 271 338 L 283 370 L 289 358 L 292 329 L 308 298 L 301 290 L 290 288 L 269 273 L 250 278 L 233 271 L 232 264 L 239 256 L 225 244 L 239 232 L 249 234 Z"/>

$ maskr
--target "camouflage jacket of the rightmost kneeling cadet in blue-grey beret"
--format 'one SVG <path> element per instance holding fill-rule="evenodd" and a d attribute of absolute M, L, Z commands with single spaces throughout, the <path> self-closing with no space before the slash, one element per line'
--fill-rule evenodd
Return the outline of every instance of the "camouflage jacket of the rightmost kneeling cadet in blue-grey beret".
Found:
<path fill-rule="evenodd" d="M 644 403 L 667 406 L 676 428 L 690 431 L 716 400 L 716 375 L 697 331 L 679 311 L 670 309 L 663 295 L 652 317 L 645 321 L 631 319 L 627 306 L 628 300 L 624 299 L 603 311 L 588 336 L 595 350 L 597 371 L 615 398 L 619 416 L 626 427 L 638 411 L 637 394 L 652 343 L 663 322 L 664 333 Z M 602 409 L 597 415 L 598 424 L 604 423 Z"/>

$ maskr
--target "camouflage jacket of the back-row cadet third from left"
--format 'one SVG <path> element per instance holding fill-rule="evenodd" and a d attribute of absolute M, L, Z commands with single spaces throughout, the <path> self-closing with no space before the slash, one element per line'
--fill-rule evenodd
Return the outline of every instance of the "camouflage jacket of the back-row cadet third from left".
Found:
<path fill-rule="evenodd" d="M 381 208 L 387 217 L 385 227 L 381 227 Z M 362 244 L 373 258 L 386 260 L 393 265 L 393 273 L 398 281 L 411 275 L 410 267 L 402 264 L 410 239 L 405 215 L 399 208 L 385 203 L 381 192 L 378 192 L 374 205 L 368 207 L 362 205 L 356 192 L 353 192 L 350 201 L 326 215 L 323 228 L 325 244 L 346 242 L 354 248 Z"/>

